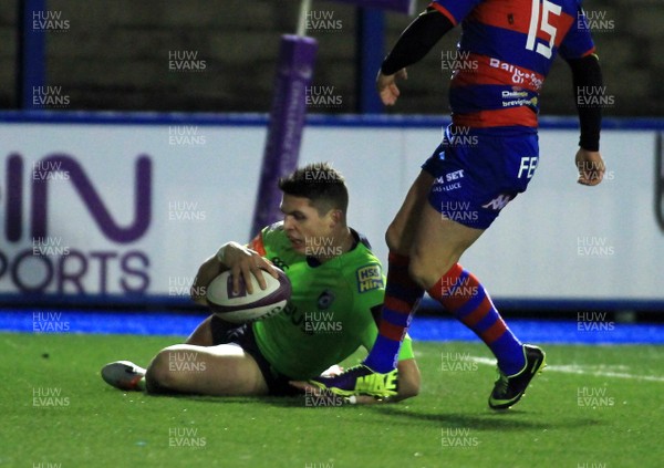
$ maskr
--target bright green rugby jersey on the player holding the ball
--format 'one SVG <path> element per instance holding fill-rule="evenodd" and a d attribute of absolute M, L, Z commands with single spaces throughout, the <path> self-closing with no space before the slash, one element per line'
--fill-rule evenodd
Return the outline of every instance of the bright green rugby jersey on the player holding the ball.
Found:
<path fill-rule="evenodd" d="M 294 251 L 281 222 L 263 228 L 250 247 L 282 269 L 292 284 L 284 311 L 252 324 L 256 341 L 274 370 L 312 378 L 377 336 L 372 309 L 383 304 L 385 281 L 369 242 L 352 231 L 356 247 L 331 260 Z M 406 336 L 400 360 L 413 357 Z"/>

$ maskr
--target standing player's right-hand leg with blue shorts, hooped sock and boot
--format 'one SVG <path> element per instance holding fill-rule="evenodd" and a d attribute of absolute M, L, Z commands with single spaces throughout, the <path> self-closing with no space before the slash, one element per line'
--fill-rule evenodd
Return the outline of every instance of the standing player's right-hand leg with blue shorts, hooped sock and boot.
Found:
<path fill-rule="evenodd" d="M 512 147 L 519 152 L 517 156 L 510 153 Z M 521 397 L 532 375 L 543 365 L 544 355 L 535 346 L 525 346 L 515 336 L 484 285 L 464 270 L 458 260 L 497 218 L 500 209 L 526 189 L 532 169 L 528 169 L 531 163 L 525 165 L 523 160 L 531 162 L 532 157 L 520 155 L 537 154 L 537 144 L 533 145 L 530 138 L 510 142 L 499 138 L 490 142 L 488 148 L 505 153 L 506 163 L 495 154 L 488 154 L 489 157 L 483 160 L 487 153 L 481 148 L 459 149 L 453 156 L 457 156 L 454 163 L 463 171 L 452 167 L 453 173 L 445 171 L 436 179 L 436 184 L 444 185 L 439 190 L 434 187 L 430 204 L 421 216 L 411 254 L 411 275 L 491 350 L 501 378 L 489 404 L 500 408 Z M 468 164 L 470 157 L 477 159 L 475 166 Z M 463 174 L 461 180 L 453 186 L 456 191 L 445 190 L 450 187 L 448 180 L 454 179 L 455 173 Z M 450 198 L 450 195 L 457 198 Z"/>

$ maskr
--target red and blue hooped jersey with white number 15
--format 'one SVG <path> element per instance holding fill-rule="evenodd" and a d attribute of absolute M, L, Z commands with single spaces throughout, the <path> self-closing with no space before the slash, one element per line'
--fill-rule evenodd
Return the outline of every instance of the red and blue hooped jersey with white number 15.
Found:
<path fill-rule="evenodd" d="M 594 52 L 581 0 L 434 0 L 461 22 L 449 89 L 453 122 L 537 127 L 539 92 L 557 53 Z"/>

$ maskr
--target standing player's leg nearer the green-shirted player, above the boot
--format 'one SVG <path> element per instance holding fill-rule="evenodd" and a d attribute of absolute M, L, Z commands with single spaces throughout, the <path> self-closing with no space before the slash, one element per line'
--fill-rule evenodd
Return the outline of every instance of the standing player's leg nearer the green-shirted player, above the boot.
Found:
<path fill-rule="evenodd" d="M 411 246 L 422 206 L 434 177 L 421 171 L 396 217 L 387 228 L 385 240 L 390 248 L 385 300 L 378 323 L 378 336 L 364 365 L 377 373 L 388 373 L 396 366 L 396 356 L 424 290 L 408 274 Z"/>

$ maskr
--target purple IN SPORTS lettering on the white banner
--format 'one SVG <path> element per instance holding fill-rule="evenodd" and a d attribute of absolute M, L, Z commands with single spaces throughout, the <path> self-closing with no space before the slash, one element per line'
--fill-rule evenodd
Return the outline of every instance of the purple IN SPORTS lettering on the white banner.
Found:
<path fill-rule="evenodd" d="M 132 214 L 128 223 L 108 208 L 105 180 L 89 176 L 83 162 L 70 154 L 31 162 L 12 153 L 4 166 L 1 292 L 146 292 L 151 260 L 135 245 L 152 220 L 149 157 L 138 156 L 134 167 L 117 165 L 125 181 L 122 215 Z M 87 217 L 73 215 L 81 205 Z M 91 231 L 104 238 L 103 248 L 91 245 Z"/>

